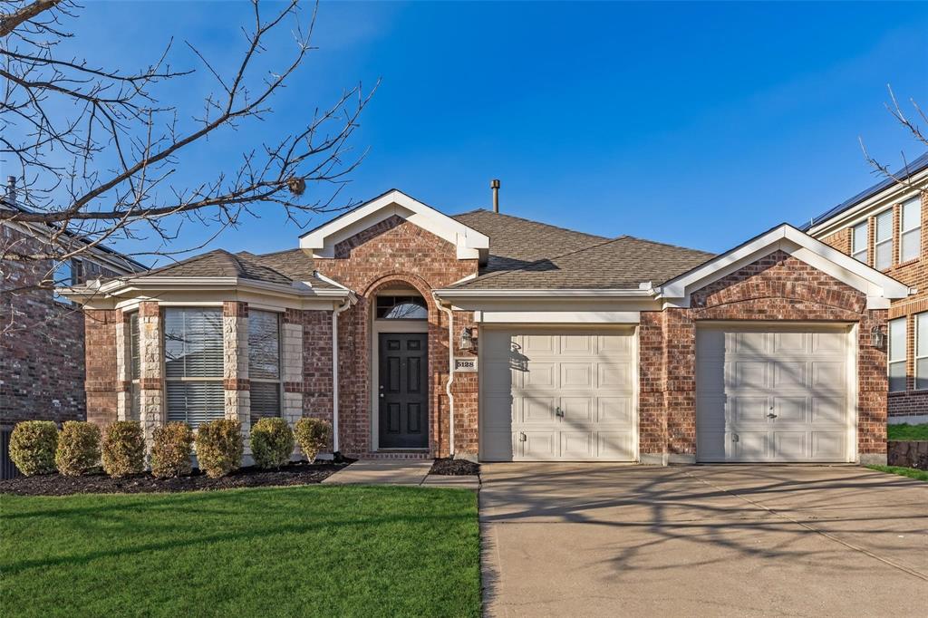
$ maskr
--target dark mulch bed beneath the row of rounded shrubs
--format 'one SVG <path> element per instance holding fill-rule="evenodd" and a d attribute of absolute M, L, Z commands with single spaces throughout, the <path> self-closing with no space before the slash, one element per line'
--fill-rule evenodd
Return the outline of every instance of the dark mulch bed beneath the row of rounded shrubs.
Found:
<path fill-rule="evenodd" d="M 200 470 L 191 476 L 177 479 L 156 479 L 150 474 L 138 474 L 124 479 L 113 479 L 105 474 L 88 476 L 19 476 L 0 481 L 0 494 L 17 496 L 71 496 L 72 494 L 149 494 L 154 492 L 195 492 L 235 487 L 262 487 L 269 485 L 311 485 L 342 470 L 351 463 L 292 463 L 280 470 L 241 468 L 228 476 L 211 479 Z"/>

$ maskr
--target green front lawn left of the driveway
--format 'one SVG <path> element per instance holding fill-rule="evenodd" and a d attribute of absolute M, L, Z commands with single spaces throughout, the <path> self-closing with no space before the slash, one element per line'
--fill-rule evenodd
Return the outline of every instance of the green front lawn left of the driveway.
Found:
<path fill-rule="evenodd" d="M 0 496 L 4 616 L 479 616 L 473 492 Z"/>

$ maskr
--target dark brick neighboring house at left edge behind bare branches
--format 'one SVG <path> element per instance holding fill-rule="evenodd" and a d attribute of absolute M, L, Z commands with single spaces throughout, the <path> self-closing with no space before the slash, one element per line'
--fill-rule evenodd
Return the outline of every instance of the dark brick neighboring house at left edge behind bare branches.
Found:
<path fill-rule="evenodd" d="M 21 208 L 4 197 L 0 208 Z M 47 253 L 47 228 L 0 224 L 0 246 L 20 254 Z M 80 242 L 80 239 L 71 239 Z M 51 290 L 35 290 L 53 268 L 50 261 L 0 263 L 0 431 L 20 420 L 85 418 L 84 314 Z M 145 266 L 104 248 L 60 264 L 59 282 L 83 283 L 145 270 Z"/>

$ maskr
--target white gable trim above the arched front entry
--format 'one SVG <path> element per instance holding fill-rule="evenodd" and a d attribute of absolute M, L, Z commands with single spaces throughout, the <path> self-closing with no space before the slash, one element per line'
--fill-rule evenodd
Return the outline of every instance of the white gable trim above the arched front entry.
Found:
<path fill-rule="evenodd" d="M 335 257 L 335 245 L 394 214 L 453 244 L 458 260 L 485 260 L 490 249 L 490 238 L 396 189 L 303 234 L 300 248 L 313 257 Z"/>

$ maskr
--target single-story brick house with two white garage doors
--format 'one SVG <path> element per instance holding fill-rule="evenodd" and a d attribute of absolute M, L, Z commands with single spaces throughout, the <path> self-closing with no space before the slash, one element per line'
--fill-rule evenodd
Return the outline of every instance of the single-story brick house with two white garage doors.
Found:
<path fill-rule="evenodd" d="M 791 225 L 719 255 L 398 190 L 264 255 L 73 287 L 87 415 L 329 419 L 354 457 L 885 462 L 908 286 Z M 449 354 L 450 351 L 450 354 Z"/>

